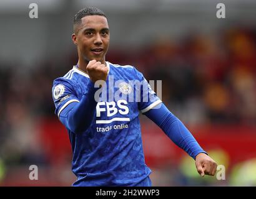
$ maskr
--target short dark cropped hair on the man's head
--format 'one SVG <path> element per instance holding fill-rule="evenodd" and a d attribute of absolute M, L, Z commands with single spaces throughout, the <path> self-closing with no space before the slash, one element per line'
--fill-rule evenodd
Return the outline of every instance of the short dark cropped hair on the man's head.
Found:
<path fill-rule="evenodd" d="M 74 16 L 74 20 L 73 20 L 73 29 L 74 32 L 76 32 L 77 30 L 77 26 L 79 24 L 81 24 L 82 21 L 82 17 L 85 16 L 91 16 L 91 15 L 99 15 L 99 16 L 104 16 L 107 19 L 106 14 L 101 11 L 100 9 L 98 9 L 97 7 L 84 7 L 83 9 L 81 9 L 80 11 L 78 11 L 76 13 L 76 15 Z"/>

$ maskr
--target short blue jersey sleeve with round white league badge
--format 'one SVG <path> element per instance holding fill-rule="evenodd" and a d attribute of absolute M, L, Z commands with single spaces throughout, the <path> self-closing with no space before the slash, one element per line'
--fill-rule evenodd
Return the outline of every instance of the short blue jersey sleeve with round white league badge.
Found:
<path fill-rule="evenodd" d="M 59 117 L 67 105 L 74 102 L 79 102 L 74 85 L 67 80 L 57 78 L 52 86 L 52 99 L 55 105 L 55 114 Z"/>

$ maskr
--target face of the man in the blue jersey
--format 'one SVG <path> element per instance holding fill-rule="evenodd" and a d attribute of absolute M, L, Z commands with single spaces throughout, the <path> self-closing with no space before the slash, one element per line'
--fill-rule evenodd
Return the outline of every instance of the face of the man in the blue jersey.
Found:
<path fill-rule="evenodd" d="M 76 34 L 72 34 L 79 58 L 83 58 L 86 62 L 90 60 L 105 62 L 109 38 L 109 25 L 106 17 L 97 15 L 83 17 Z"/>

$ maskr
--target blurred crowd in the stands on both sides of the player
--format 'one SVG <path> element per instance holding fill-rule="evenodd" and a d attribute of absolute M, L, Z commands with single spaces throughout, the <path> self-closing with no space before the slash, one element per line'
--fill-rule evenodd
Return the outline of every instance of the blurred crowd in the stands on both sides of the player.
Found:
<path fill-rule="evenodd" d="M 255 29 L 156 37 L 140 48 L 111 46 L 106 60 L 162 80 L 162 101 L 185 124 L 256 124 Z M 29 70 L 0 62 L 0 159 L 6 165 L 49 165 L 37 124 L 57 119 L 52 81 L 76 63 L 76 52 L 39 60 Z"/>

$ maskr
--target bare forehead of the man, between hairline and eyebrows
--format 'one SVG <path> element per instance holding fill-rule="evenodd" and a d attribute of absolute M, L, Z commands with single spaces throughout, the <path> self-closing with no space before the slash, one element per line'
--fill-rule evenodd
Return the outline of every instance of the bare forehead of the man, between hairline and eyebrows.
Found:
<path fill-rule="evenodd" d="M 103 29 L 109 28 L 109 24 L 107 23 L 107 19 L 104 16 L 92 15 L 85 16 L 81 19 L 80 29 Z"/>

